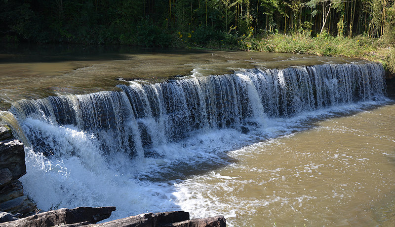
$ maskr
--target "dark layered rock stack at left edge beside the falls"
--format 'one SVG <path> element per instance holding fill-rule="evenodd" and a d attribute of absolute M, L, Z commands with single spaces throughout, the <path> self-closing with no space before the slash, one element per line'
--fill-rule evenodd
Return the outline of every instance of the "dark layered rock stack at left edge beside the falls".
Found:
<path fill-rule="evenodd" d="M 17 217 L 35 212 L 36 204 L 23 195 L 22 183 L 18 180 L 25 174 L 23 143 L 15 139 L 8 126 L 0 125 L 0 211 Z M 0 223 L 4 220 L 7 219 L 0 219 Z"/>

